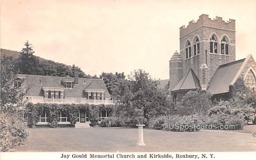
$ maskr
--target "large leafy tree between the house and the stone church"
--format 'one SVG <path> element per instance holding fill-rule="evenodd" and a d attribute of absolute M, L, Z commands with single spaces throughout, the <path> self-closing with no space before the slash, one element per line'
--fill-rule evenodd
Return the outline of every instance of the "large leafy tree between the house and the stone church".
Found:
<path fill-rule="evenodd" d="M 120 104 L 117 106 L 117 114 L 127 117 L 142 116 L 146 119 L 168 114 L 168 94 L 160 90 L 157 84 L 158 81 L 143 70 L 135 70 L 127 80 L 120 80 L 112 88 L 112 95 Z"/>

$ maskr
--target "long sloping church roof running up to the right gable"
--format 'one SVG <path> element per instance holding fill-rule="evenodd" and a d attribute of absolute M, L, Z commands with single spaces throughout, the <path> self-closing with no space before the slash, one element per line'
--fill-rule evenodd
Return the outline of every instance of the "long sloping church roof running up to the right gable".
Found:
<path fill-rule="evenodd" d="M 240 59 L 231 63 L 219 66 L 209 83 L 207 91 L 211 94 L 229 92 L 229 86 L 236 77 L 245 59 Z M 246 63 L 246 62 L 245 62 Z M 240 74 L 239 74 L 240 75 Z M 236 78 L 237 79 L 237 78 Z"/>

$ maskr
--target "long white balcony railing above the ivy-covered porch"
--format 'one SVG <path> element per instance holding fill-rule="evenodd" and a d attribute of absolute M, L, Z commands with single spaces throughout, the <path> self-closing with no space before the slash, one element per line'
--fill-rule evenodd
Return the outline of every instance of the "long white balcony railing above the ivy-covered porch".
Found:
<path fill-rule="evenodd" d="M 65 98 L 65 99 L 53 99 L 42 97 L 28 97 L 28 102 L 31 103 L 68 103 L 68 104 L 113 104 L 112 100 L 88 100 L 85 98 Z"/>

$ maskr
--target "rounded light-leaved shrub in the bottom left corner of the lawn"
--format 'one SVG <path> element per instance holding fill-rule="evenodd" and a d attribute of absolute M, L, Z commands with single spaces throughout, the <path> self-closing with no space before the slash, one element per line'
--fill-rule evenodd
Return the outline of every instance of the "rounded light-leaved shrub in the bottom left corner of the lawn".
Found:
<path fill-rule="evenodd" d="M 28 136 L 26 125 L 17 114 L 1 113 L 1 151 L 20 145 Z"/>

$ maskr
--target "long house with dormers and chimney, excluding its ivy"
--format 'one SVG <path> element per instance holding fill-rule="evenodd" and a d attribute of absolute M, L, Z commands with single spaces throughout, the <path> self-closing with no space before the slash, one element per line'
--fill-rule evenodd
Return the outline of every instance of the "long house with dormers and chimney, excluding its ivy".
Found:
<path fill-rule="evenodd" d="M 29 88 L 26 99 L 31 103 L 67 103 L 67 104 L 112 104 L 107 87 L 102 79 L 78 78 L 77 68 L 74 78 L 18 74 L 17 77 L 25 80 L 25 87 Z M 100 120 L 107 117 L 107 111 L 101 111 Z M 67 116 L 60 113 L 60 124 L 70 124 Z M 85 123 L 89 126 L 90 120 L 84 110 L 80 110 L 77 124 Z M 47 114 L 40 115 L 38 125 L 47 123 Z"/>

